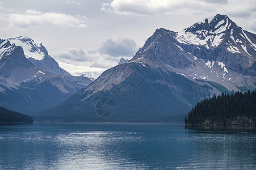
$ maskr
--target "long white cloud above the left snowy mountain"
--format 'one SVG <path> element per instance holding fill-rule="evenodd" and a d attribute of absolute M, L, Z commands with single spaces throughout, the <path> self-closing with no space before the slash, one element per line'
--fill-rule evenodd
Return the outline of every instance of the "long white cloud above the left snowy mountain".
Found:
<path fill-rule="evenodd" d="M 85 18 L 85 16 L 27 10 L 24 14 L 10 14 L 9 23 L 13 28 L 27 28 L 36 25 L 85 28 Z"/>

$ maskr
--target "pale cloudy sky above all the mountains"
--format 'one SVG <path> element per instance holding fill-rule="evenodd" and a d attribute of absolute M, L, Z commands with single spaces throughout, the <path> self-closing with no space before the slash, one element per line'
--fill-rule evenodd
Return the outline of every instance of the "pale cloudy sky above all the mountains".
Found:
<path fill-rule="evenodd" d="M 0 39 L 26 35 L 57 61 L 108 68 L 157 28 L 181 31 L 216 14 L 256 33 L 255 0 L 0 0 Z"/>

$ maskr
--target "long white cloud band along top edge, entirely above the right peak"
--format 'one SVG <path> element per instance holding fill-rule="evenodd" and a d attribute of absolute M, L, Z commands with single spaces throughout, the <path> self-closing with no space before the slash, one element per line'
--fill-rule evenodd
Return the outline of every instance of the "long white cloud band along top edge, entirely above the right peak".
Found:
<path fill-rule="evenodd" d="M 102 3 L 101 11 L 121 15 L 229 14 L 255 11 L 255 0 L 112 0 Z M 254 8 L 254 11 L 252 10 Z"/>

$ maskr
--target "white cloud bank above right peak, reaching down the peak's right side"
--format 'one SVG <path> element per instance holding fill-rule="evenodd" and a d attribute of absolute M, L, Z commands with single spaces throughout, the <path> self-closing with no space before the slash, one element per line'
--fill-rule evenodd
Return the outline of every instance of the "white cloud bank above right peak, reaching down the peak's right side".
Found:
<path fill-rule="evenodd" d="M 225 14 L 242 28 L 255 31 L 255 0 L 112 0 L 101 11 L 133 16 Z M 202 18 L 203 19 L 203 18 Z M 200 19 L 199 19 L 200 20 Z"/>

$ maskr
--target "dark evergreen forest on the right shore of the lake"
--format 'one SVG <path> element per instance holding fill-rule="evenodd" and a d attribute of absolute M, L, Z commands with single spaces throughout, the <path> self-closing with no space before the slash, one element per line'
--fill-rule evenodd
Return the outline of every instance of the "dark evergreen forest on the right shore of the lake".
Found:
<path fill-rule="evenodd" d="M 197 103 L 184 118 L 186 125 L 251 125 L 256 122 L 256 92 L 214 95 Z"/>

